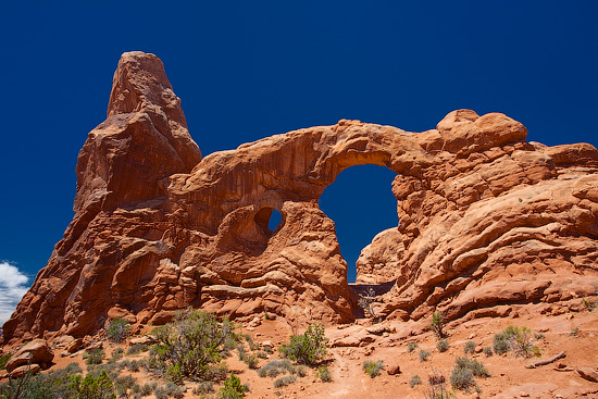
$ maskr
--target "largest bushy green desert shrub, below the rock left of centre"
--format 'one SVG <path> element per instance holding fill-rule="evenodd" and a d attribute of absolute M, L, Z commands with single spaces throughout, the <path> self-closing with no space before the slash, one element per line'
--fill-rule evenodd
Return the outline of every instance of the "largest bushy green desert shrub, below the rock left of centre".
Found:
<path fill-rule="evenodd" d="M 225 319 L 196 309 L 177 312 L 175 320 L 154 331 L 159 344 L 149 352 L 148 369 L 165 374 L 169 367 L 178 366 L 180 374 L 190 378 L 220 375 L 222 358 L 238 339 L 235 325 Z"/>

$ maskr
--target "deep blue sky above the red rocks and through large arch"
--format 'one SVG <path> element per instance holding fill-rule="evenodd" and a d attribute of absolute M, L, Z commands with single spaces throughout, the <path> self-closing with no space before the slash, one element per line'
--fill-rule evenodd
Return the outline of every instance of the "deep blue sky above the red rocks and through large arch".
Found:
<path fill-rule="evenodd" d="M 598 145 L 595 1 L 52 3 L 0 12 L 0 260 L 27 284 L 72 220 L 77 152 L 124 51 L 162 59 L 204 154 L 339 119 L 419 132 L 460 108 L 503 112 L 530 140 Z M 364 171 L 347 190 L 378 179 Z M 352 227 L 344 253 L 371 239 L 354 212 L 333 215 Z"/>

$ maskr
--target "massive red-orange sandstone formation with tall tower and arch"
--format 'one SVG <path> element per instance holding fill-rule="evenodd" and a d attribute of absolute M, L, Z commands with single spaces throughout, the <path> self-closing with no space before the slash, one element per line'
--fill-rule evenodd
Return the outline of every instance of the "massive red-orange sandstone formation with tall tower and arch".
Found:
<path fill-rule="evenodd" d="M 79 153 L 75 217 L 4 342 L 82 337 L 114 316 L 160 324 L 188 306 L 351 321 L 357 295 L 317 199 L 360 164 L 397 174 L 399 226 L 358 262 L 358 282 L 395 282 L 379 315 L 596 295 L 598 151 L 526 134 L 503 114 L 459 110 L 423 133 L 342 120 L 201 159 L 161 62 L 126 53 L 108 119 Z"/>

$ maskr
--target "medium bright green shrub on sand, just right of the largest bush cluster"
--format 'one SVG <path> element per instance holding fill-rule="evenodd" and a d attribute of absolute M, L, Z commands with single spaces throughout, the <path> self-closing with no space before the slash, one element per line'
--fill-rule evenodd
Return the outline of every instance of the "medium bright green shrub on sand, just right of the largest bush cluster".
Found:
<path fill-rule="evenodd" d="M 289 344 L 283 344 L 278 351 L 283 357 L 299 364 L 313 365 L 326 356 L 324 326 L 310 324 L 306 333 L 292 335 Z"/>

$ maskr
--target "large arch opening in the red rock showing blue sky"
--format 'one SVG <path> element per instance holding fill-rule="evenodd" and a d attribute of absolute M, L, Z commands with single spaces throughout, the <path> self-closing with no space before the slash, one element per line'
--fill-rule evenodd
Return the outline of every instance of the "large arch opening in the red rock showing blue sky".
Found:
<path fill-rule="evenodd" d="M 396 173 L 385 166 L 351 166 L 320 197 L 320 209 L 335 222 L 340 254 L 348 265 L 348 283 L 356 282 L 361 250 L 378 233 L 398 226 L 395 177 Z"/>

